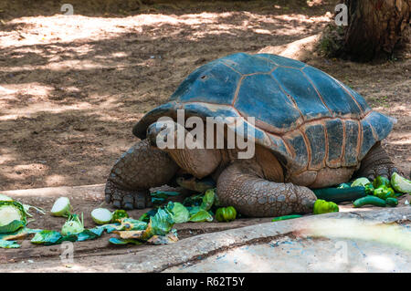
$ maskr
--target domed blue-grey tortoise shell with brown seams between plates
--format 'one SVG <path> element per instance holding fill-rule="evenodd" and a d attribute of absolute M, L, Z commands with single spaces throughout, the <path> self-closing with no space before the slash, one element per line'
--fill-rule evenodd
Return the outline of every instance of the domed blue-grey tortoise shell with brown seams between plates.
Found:
<path fill-rule="evenodd" d="M 151 110 L 133 128 L 145 138 L 162 116 L 242 117 L 233 130 L 255 141 L 290 172 L 352 167 L 393 128 L 394 119 L 371 109 L 352 88 L 300 61 L 270 54 L 237 53 L 195 69 L 169 102 Z"/>

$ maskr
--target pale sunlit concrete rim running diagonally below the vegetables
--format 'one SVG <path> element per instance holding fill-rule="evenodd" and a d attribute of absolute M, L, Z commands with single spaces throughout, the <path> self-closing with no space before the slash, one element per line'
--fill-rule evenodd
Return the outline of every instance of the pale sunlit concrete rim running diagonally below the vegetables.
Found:
<path fill-rule="evenodd" d="M 199 256 L 205 257 L 238 245 L 253 244 L 286 234 L 299 233 L 311 223 L 329 218 L 361 219 L 374 224 L 405 222 L 411 220 L 411 207 L 361 213 L 327 213 L 277 223 L 261 223 L 213 234 L 201 234 L 175 244 L 162 245 L 142 253 L 127 255 L 121 257 L 121 263 L 112 263 L 115 268 L 132 272 L 161 272 L 168 267 L 195 260 Z"/>

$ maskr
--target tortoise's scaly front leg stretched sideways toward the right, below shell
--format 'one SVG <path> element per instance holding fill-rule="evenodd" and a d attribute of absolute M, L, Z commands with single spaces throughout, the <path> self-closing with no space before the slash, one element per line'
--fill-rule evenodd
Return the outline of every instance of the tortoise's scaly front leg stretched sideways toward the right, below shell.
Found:
<path fill-rule="evenodd" d="M 260 217 L 312 213 L 317 200 L 307 187 L 270 182 L 242 166 L 240 161 L 218 177 L 217 196 L 223 205 L 234 206 L 239 213 Z"/>

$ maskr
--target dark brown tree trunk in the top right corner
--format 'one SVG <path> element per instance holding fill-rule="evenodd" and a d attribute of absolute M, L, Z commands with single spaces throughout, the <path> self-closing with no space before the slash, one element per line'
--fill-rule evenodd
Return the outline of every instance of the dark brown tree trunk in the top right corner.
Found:
<path fill-rule="evenodd" d="M 370 61 L 391 57 L 396 47 L 409 41 L 411 0 L 341 2 L 348 7 L 348 26 L 336 29 L 340 31 L 341 46 L 337 46 L 335 55 Z"/>

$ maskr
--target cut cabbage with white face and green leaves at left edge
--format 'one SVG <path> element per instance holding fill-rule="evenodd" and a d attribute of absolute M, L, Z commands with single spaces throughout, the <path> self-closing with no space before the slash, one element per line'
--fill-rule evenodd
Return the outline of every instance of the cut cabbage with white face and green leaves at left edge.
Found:
<path fill-rule="evenodd" d="M 26 211 L 16 201 L 0 201 L 0 234 L 14 233 L 26 226 Z"/>

